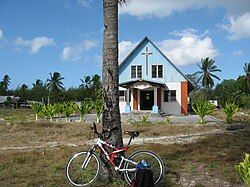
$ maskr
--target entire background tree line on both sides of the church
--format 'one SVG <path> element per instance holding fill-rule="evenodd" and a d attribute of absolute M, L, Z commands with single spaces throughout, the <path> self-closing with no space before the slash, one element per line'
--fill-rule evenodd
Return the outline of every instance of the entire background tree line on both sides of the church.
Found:
<path fill-rule="evenodd" d="M 200 70 L 187 77 L 194 84 L 194 90 L 190 93 L 192 103 L 204 100 L 218 100 L 219 105 L 235 103 L 242 108 L 250 108 L 250 63 L 244 65 L 245 74 L 234 79 L 225 79 L 214 86 L 214 79 L 220 80 L 215 75 L 220 72 L 213 59 L 205 58 L 198 64 Z M 26 84 L 9 90 L 11 78 L 5 75 L 0 81 L 0 95 L 18 96 L 20 101 L 32 100 L 43 103 L 57 103 L 64 101 L 83 101 L 86 98 L 97 100 L 101 98 L 102 82 L 99 75 L 87 75 L 81 80 L 79 87 L 66 89 L 63 84 L 64 77 L 60 73 L 49 74 L 49 78 L 43 82 L 37 79 L 32 87 Z"/>

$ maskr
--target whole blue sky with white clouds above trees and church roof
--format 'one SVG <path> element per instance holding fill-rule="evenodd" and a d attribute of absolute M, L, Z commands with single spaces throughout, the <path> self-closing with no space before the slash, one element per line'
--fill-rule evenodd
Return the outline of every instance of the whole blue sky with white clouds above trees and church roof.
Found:
<path fill-rule="evenodd" d="M 70 88 L 101 75 L 102 14 L 101 0 L 0 0 L 0 80 L 31 88 L 59 72 Z M 210 57 L 221 81 L 236 79 L 250 62 L 250 0 L 128 0 L 119 7 L 119 62 L 145 36 L 184 74 Z"/>

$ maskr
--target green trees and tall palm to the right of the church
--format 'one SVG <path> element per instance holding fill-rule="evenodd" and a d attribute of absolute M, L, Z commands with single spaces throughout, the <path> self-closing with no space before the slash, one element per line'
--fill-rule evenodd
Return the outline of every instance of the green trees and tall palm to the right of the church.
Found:
<path fill-rule="evenodd" d="M 214 79 L 220 80 L 214 73 L 220 72 L 215 61 L 202 59 L 200 70 L 187 77 L 193 82 L 194 90 L 190 93 L 191 103 L 217 100 L 222 107 L 235 103 L 241 108 L 250 108 L 250 62 L 244 64 L 244 74 L 234 79 L 225 79 L 214 86 Z"/>

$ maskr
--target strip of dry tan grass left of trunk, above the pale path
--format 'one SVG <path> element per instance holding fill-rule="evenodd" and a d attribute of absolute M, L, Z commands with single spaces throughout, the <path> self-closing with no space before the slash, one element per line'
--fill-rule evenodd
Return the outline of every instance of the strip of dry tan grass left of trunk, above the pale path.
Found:
<path fill-rule="evenodd" d="M 90 128 L 78 123 L 22 122 L 0 124 L 0 147 L 36 146 L 48 142 L 82 144 L 91 138 Z"/>

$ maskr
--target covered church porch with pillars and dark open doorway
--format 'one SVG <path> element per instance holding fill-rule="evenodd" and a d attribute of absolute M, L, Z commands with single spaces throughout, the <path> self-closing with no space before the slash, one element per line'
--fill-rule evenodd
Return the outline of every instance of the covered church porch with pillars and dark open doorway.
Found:
<path fill-rule="evenodd" d="M 119 85 L 123 93 L 124 103 L 120 105 L 122 113 L 151 112 L 158 113 L 161 110 L 162 89 L 166 88 L 164 83 L 135 80 Z M 121 100 L 120 100 L 121 101 Z"/>

